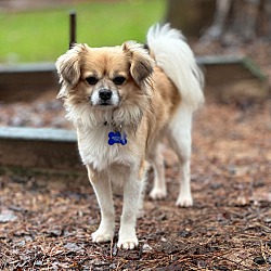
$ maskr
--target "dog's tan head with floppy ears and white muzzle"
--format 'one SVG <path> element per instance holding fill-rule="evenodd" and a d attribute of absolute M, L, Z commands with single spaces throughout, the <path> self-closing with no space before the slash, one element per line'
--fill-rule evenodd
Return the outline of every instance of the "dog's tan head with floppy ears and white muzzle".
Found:
<path fill-rule="evenodd" d="M 131 104 L 146 94 L 154 61 L 141 44 L 89 48 L 76 44 L 56 62 L 60 98 L 73 105 L 108 109 Z M 140 102 L 140 101 L 137 101 Z"/>

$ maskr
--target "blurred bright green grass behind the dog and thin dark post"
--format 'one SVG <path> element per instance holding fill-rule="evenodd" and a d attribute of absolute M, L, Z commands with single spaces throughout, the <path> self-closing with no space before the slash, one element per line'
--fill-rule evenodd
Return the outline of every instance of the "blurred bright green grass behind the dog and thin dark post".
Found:
<path fill-rule="evenodd" d="M 0 63 L 55 61 L 68 47 L 68 13 L 77 12 L 77 42 L 115 46 L 145 41 L 164 18 L 165 0 L 92 1 L 42 11 L 0 13 Z"/>

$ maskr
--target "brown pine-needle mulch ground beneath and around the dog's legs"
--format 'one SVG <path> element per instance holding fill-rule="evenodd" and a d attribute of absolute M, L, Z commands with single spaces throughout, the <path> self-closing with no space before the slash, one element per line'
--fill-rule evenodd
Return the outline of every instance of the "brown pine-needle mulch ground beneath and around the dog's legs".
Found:
<path fill-rule="evenodd" d="M 54 100 L 44 104 L 61 111 Z M 207 99 L 193 127 L 195 204 L 175 206 L 180 175 L 166 149 L 169 195 L 149 198 L 150 172 L 132 251 L 117 249 L 117 235 L 111 244 L 91 242 L 100 212 L 90 185 L 1 173 L 0 269 L 271 270 L 270 112 L 271 100 L 244 109 Z M 116 209 L 119 216 L 121 198 Z"/>

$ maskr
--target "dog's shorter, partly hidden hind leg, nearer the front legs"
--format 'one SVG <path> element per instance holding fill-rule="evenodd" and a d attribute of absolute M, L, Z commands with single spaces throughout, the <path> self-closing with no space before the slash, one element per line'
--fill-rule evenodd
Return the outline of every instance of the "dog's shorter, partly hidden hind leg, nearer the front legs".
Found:
<path fill-rule="evenodd" d="M 153 199 L 162 199 L 167 196 L 165 165 L 162 154 L 162 144 L 157 143 L 150 154 L 150 160 L 154 171 L 154 184 L 150 193 Z"/>

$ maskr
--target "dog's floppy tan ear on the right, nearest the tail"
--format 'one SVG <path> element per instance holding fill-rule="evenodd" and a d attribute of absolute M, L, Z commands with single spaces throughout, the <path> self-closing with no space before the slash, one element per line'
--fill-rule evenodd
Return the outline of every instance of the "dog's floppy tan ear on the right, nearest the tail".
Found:
<path fill-rule="evenodd" d="M 127 41 L 122 44 L 122 50 L 130 60 L 130 74 L 134 81 L 141 86 L 150 79 L 153 73 L 154 60 L 149 52 L 134 41 Z"/>

